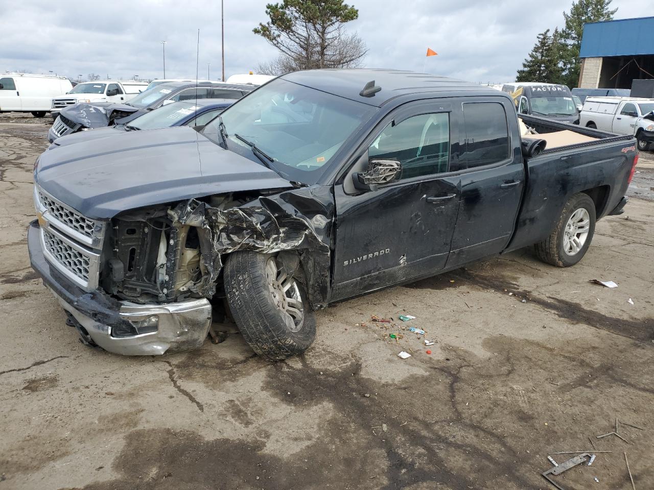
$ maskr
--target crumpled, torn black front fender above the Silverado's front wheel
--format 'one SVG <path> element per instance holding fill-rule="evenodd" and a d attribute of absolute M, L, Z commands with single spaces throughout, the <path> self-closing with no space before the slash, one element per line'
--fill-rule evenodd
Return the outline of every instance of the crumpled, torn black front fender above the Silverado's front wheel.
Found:
<path fill-rule="evenodd" d="M 169 216 L 173 225 L 198 227 L 202 278 L 190 287 L 192 291 L 205 297 L 215 294 L 223 255 L 237 250 L 294 250 L 305 272 L 311 306 L 326 304 L 334 216 L 328 188 L 292 189 L 227 209 L 190 199 L 170 210 Z"/>

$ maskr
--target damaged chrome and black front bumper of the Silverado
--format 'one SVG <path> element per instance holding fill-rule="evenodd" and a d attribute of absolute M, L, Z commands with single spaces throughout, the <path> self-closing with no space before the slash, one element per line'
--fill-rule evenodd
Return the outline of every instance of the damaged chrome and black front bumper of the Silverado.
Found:
<path fill-rule="evenodd" d="M 88 293 L 61 275 L 46 261 L 37 221 L 27 229 L 27 248 L 31 267 L 92 340 L 112 353 L 122 355 L 161 355 L 167 351 L 199 348 L 211 326 L 211 304 L 193 299 L 165 304 L 135 304 L 118 301 L 101 291 Z M 151 333 L 125 335 L 135 325 L 158 317 L 158 329 Z M 112 334 L 120 333 L 120 336 Z"/>

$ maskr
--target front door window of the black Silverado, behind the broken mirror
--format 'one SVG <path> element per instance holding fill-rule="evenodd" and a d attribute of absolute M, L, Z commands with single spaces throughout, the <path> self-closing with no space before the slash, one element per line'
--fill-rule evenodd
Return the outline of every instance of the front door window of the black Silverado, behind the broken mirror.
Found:
<path fill-rule="evenodd" d="M 369 159 L 397 160 L 401 180 L 449 171 L 449 113 L 421 114 L 390 123 L 368 148 Z"/>

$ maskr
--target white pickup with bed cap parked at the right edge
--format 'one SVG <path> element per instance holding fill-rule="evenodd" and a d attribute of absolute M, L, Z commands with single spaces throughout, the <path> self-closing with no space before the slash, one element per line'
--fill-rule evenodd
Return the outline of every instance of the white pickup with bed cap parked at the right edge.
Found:
<path fill-rule="evenodd" d="M 579 125 L 634 135 L 638 150 L 645 152 L 654 143 L 654 99 L 587 97 L 579 115 Z"/>

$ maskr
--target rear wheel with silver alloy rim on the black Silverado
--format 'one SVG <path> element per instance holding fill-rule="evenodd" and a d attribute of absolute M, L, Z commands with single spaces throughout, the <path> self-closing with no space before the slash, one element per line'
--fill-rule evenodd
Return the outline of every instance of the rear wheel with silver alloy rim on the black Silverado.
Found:
<path fill-rule="evenodd" d="M 575 265 L 587 252 L 595 233 L 595 203 L 589 195 L 570 197 L 547 239 L 534 246 L 543 262 L 556 267 Z"/>

